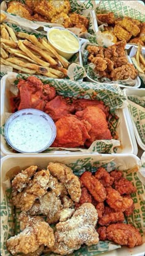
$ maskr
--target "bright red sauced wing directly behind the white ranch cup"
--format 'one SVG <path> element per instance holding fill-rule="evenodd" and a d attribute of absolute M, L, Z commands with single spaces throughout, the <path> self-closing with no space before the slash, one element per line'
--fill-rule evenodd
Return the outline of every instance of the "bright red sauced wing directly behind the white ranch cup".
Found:
<path fill-rule="evenodd" d="M 18 110 L 23 110 L 24 108 L 44 110 L 44 100 L 52 100 L 56 94 L 53 87 L 50 87 L 49 84 L 42 84 L 41 80 L 34 76 L 29 76 L 26 81 L 20 79 L 18 89 L 20 91 Z"/>

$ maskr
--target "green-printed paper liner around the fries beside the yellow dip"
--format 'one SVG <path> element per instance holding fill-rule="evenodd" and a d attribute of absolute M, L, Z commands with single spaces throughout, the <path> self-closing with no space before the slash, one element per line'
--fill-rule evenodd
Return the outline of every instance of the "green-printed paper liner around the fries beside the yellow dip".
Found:
<path fill-rule="evenodd" d="M 45 27 L 43 28 L 44 31 L 37 31 L 36 29 L 34 29 L 33 26 L 33 22 L 31 22 L 31 25 L 29 25 L 29 21 L 26 20 L 26 22 L 24 23 L 24 25 L 22 24 L 22 22 L 19 23 L 19 18 L 10 14 L 6 14 L 7 15 L 7 20 L 6 23 L 7 25 L 9 25 L 11 28 L 13 28 L 13 30 L 17 33 L 17 32 L 24 32 L 24 33 L 28 33 L 28 34 L 33 34 L 34 36 L 36 36 L 36 38 L 47 38 L 46 36 L 46 31 L 45 31 Z M 28 23 L 28 24 L 27 24 Z M 68 68 L 68 77 L 66 79 L 72 79 L 72 80 L 80 80 L 83 79 L 86 74 L 85 74 L 85 70 L 82 66 L 80 66 L 79 63 L 79 53 L 74 54 L 71 59 L 69 60 L 69 63 L 71 63 L 71 65 L 69 65 Z M 2 65 L 5 67 L 5 65 Z M 6 69 L 4 67 L 1 66 L 1 73 L 0 76 L 4 76 L 4 74 L 9 73 L 10 71 L 12 71 L 12 67 L 7 67 Z"/>

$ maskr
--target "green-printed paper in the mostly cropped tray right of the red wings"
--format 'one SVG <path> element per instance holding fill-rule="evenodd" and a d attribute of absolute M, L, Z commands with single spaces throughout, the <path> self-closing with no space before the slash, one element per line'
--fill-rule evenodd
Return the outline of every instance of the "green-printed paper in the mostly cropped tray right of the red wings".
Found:
<path fill-rule="evenodd" d="M 145 97 L 128 96 L 128 103 L 131 118 L 135 123 L 141 141 L 145 145 Z"/>

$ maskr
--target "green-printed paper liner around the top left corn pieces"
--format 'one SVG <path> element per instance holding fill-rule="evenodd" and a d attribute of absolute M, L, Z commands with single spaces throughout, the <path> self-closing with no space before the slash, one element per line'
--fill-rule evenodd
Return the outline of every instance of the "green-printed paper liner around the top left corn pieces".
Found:
<path fill-rule="evenodd" d="M 6 11 L 7 10 L 7 5 L 6 2 L 9 1 L 4 1 L 2 3 L 1 9 Z M 23 2 L 25 4 L 25 0 L 20 0 L 20 2 Z M 88 18 L 89 20 L 89 25 L 88 25 L 88 33 L 94 34 L 95 33 L 95 26 L 94 26 L 94 17 L 91 13 L 91 10 L 93 10 L 93 3 L 92 1 L 76 1 L 76 0 L 69 0 L 70 5 L 71 5 L 71 12 L 77 12 L 77 14 L 84 15 L 85 17 Z M 14 14 L 13 14 L 14 15 Z M 25 18 L 20 18 L 16 16 L 16 19 L 20 23 L 28 23 L 30 26 L 34 26 L 34 28 L 38 28 L 39 26 L 47 26 L 49 28 L 52 28 L 53 26 L 62 26 L 57 23 L 48 23 L 48 22 L 31 22 L 29 20 L 26 20 Z M 63 27 L 63 26 L 62 26 Z"/>

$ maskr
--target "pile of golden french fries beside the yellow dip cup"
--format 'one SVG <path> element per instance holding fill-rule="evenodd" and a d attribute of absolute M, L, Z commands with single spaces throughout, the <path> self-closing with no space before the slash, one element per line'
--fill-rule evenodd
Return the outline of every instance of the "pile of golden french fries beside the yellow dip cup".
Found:
<path fill-rule="evenodd" d="M 19 73 L 41 74 L 49 78 L 67 76 L 68 60 L 65 60 L 48 43 L 46 38 L 23 32 L 15 33 L 4 23 L 1 14 L 1 64 L 11 66 Z"/>

